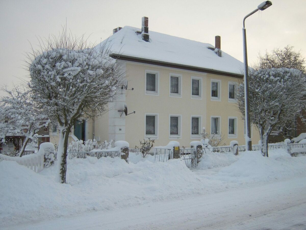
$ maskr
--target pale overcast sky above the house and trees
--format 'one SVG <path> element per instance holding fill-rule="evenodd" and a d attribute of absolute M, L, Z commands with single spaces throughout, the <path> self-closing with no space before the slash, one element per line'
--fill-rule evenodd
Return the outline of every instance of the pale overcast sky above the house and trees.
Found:
<path fill-rule="evenodd" d="M 67 28 L 77 36 L 99 43 L 112 30 L 125 25 L 141 28 L 141 17 L 149 18 L 149 31 L 165 33 L 215 45 L 243 61 L 242 21 L 261 0 L 155 0 L 155 1 L 66 1 L 0 0 L 1 55 L 0 85 L 28 81 L 24 54 L 37 37 L 57 35 L 67 20 Z M 287 44 L 306 57 L 306 1 L 272 0 L 272 6 L 246 19 L 248 63 Z M 188 58 L 188 57 L 186 57 Z M 0 92 L 0 96 L 3 94 Z"/>

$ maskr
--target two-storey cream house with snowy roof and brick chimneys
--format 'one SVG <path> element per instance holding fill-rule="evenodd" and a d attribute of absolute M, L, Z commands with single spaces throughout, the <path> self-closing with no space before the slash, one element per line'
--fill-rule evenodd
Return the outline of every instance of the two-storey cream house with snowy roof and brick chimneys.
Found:
<path fill-rule="evenodd" d="M 189 146 L 207 133 L 224 136 L 223 143 L 244 144 L 244 122 L 237 107 L 236 85 L 243 79 L 243 63 L 221 50 L 220 36 L 211 44 L 129 26 L 114 29 L 100 45 L 121 61 L 127 83 L 109 111 L 94 121 L 80 121 L 72 137 L 87 140 L 125 140 L 130 147 L 139 140 L 155 139 L 155 146 L 177 140 Z M 133 88 L 133 90 L 131 90 Z M 124 112 L 136 111 L 129 116 Z M 252 142 L 259 133 L 252 128 Z M 50 140 L 56 142 L 58 133 Z M 73 139 L 71 139 L 73 140 Z M 222 143 L 222 144 L 223 144 Z"/>

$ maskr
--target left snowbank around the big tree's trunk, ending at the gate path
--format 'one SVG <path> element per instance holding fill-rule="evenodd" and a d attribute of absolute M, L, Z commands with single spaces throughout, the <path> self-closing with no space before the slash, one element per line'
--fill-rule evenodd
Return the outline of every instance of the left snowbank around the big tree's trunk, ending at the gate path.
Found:
<path fill-rule="evenodd" d="M 2 161 L 0 174 L 3 225 L 182 199 L 200 187 L 199 179 L 179 159 L 137 164 L 118 157 L 67 159 L 68 184 L 55 182 L 56 167 L 38 174 Z"/>

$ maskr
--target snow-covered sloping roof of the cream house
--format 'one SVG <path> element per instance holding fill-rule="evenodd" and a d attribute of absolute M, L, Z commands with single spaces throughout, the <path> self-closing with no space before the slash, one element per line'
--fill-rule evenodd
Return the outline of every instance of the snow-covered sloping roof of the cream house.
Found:
<path fill-rule="evenodd" d="M 219 57 L 211 44 L 153 31 L 149 31 L 150 41 L 146 42 L 142 40 L 141 34 L 136 33 L 140 31 L 141 29 L 125 26 L 101 44 L 106 43 L 107 47 L 111 47 L 113 56 L 241 75 L 243 63 L 223 51 L 222 57 Z"/>

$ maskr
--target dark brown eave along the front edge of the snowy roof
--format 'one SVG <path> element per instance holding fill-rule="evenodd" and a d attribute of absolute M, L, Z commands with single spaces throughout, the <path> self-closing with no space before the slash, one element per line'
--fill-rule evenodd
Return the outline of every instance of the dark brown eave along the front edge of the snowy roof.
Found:
<path fill-rule="evenodd" d="M 164 61 L 156 61 L 151 59 L 145 59 L 140 57 L 132 57 L 132 56 L 126 56 L 126 55 L 120 55 L 116 53 L 110 54 L 110 57 L 118 60 L 125 60 L 125 61 L 133 61 L 133 62 L 140 62 L 140 63 L 146 63 L 151 65 L 158 65 L 158 66 L 165 66 L 165 67 L 171 67 L 171 68 L 178 68 L 183 70 L 189 70 L 189 71 L 197 71 L 197 72 L 203 72 L 203 73 L 211 73 L 211 74 L 218 74 L 228 77 L 234 77 L 234 78 L 243 78 L 243 75 L 241 74 L 234 74 L 224 71 L 218 71 L 213 69 L 206 69 L 206 68 L 200 68 L 195 66 L 188 66 L 188 65 L 182 65 L 177 63 L 170 63 L 170 62 L 164 62 Z"/>

